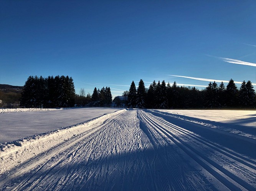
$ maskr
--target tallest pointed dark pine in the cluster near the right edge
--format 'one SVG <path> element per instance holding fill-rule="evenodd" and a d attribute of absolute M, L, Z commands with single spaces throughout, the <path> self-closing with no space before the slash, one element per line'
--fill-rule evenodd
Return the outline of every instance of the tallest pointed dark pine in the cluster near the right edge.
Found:
<path fill-rule="evenodd" d="M 233 79 L 230 79 L 226 87 L 226 105 L 227 107 L 236 107 L 238 105 L 237 100 L 238 89 Z"/>

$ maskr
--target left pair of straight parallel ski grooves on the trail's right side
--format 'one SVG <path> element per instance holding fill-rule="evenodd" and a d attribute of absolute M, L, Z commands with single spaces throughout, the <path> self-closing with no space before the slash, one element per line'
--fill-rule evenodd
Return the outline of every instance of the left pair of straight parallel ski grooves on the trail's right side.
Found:
<path fill-rule="evenodd" d="M 170 138 L 177 146 L 179 146 L 183 151 L 185 151 L 190 157 L 192 157 L 198 164 L 200 164 L 203 168 L 205 168 L 208 172 L 210 172 L 215 178 L 217 178 L 221 183 L 223 183 L 226 187 L 231 190 L 241 190 L 243 188 L 248 190 L 254 190 L 255 188 L 251 186 L 246 181 L 242 180 L 232 172 L 226 170 L 222 166 L 220 166 L 215 161 L 203 155 L 201 152 L 194 149 L 192 146 L 184 142 L 181 138 L 176 136 L 171 131 L 168 131 L 166 128 L 162 127 L 160 123 L 162 120 L 159 118 L 150 115 L 149 113 L 142 112 L 142 116 L 149 121 L 156 129 L 159 129 L 162 133 L 164 133 L 168 138 Z M 153 119 L 154 120 L 153 120 Z M 166 125 L 170 123 L 165 122 Z M 171 124 L 172 125 L 172 124 Z M 180 129 L 179 129 L 180 130 Z M 242 186 L 242 188 L 241 188 Z"/>

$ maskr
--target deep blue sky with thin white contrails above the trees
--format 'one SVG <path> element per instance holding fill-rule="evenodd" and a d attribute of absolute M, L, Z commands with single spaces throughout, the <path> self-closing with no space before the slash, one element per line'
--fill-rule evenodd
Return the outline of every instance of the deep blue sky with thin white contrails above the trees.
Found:
<path fill-rule="evenodd" d="M 0 0 L 0 84 L 68 75 L 114 97 L 140 79 L 256 83 L 255 63 L 255 0 Z"/>

